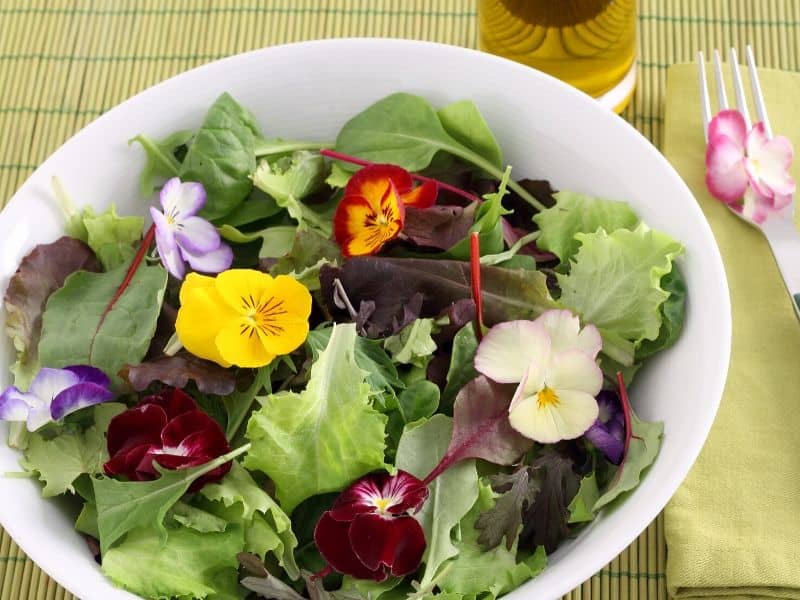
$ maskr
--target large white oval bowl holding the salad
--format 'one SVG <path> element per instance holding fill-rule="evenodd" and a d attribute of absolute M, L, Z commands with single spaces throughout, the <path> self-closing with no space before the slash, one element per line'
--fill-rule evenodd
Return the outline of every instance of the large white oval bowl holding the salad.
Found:
<path fill-rule="evenodd" d="M 434 105 L 469 98 L 486 116 L 517 177 L 627 200 L 650 226 L 686 247 L 680 266 L 689 300 L 678 343 L 652 360 L 633 389 L 640 416 L 664 421 L 664 442 L 643 483 L 550 557 L 547 569 L 508 598 L 555 598 L 621 552 L 658 515 L 700 452 L 719 405 L 730 354 L 728 287 L 711 230 L 689 189 L 659 152 L 588 96 L 494 56 L 438 44 L 383 39 L 306 42 L 204 65 L 124 102 L 45 161 L 0 214 L 0 290 L 33 246 L 62 234 L 50 179 L 72 197 L 144 214 L 137 192 L 144 158 L 127 140 L 196 127 L 223 91 L 258 117 L 268 136 L 334 139 L 347 119 L 396 91 Z M 5 315 L 0 313 L 0 325 Z M 12 362 L 0 347 L 0 365 Z M 8 385 L 0 370 L 0 387 Z M 0 431 L 0 434 L 4 432 Z M 3 438 L 5 436 L 3 435 Z M 19 470 L 0 443 L 0 472 Z M 0 520 L 45 572 L 84 600 L 134 596 L 100 572 L 59 506 L 30 479 L 0 477 Z"/>

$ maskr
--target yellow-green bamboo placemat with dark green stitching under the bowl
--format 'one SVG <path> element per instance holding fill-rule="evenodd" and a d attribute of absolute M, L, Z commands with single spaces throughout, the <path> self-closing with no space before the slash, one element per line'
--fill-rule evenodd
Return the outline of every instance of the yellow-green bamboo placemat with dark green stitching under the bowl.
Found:
<path fill-rule="evenodd" d="M 624 117 L 661 142 L 666 70 L 753 44 L 798 70 L 800 3 L 640 0 L 639 74 Z M 474 0 L 0 0 L 0 206 L 69 136 L 138 91 L 253 48 L 348 36 L 474 48 Z M 663 516 L 569 600 L 666 599 Z M 2 532 L 0 600 L 73 600 Z M 100 600 L 85 598 L 83 600 Z"/>

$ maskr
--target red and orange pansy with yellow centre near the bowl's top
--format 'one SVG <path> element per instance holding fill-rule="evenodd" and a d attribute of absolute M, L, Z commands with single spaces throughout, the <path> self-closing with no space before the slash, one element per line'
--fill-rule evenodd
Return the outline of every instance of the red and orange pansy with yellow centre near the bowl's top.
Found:
<path fill-rule="evenodd" d="M 369 165 L 347 182 L 336 207 L 333 231 L 346 257 L 375 254 L 403 229 L 405 207 L 428 208 L 436 183 L 414 187 L 411 174 L 395 165 Z"/>

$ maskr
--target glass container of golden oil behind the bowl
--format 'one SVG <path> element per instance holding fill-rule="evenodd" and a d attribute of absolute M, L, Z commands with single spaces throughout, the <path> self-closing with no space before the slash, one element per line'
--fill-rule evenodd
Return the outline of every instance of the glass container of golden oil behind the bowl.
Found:
<path fill-rule="evenodd" d="M 478 20 L 482 50 L 596 98 L 622 85 L 636 57 L 636 0 L 478 0 Z"/>

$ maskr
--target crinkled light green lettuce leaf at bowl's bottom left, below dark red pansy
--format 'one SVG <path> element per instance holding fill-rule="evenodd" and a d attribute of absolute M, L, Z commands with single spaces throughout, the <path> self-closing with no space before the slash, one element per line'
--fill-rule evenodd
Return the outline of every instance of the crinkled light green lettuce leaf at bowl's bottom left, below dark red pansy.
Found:
<path fill-rule="evenodd" d="M 201 533 L 187 527 L 130 531 L 125 540 L 103 552 L 102 570 L 121 588 L 145 598 L 241 598 L 236 553 L 243 531 Z"/>

